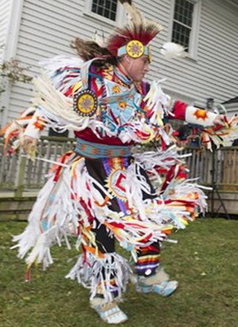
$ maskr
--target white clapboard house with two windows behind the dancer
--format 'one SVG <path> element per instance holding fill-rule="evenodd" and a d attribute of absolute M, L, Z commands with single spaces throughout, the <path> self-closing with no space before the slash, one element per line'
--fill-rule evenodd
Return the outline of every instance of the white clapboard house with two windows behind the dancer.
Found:
<path fill-rule="evenodd" d="M 238 0 L 134 0 L 163 31 L 153 42 L 148 79 L 166 77 L 164 90 L 182 101 L 206 107 L 238 96 Z M 19 59 L 30 76 L 38 61 L 72 54 L 75 36 L 107 36 L 123 23 L 117 0 L 0 0 L 0 59 Z M 159 45 L 175 41 L 187 47 L 185 59 L 166 60 Z M 29 106 L 31 86 L 9 85 L 1 97 L 1 124 Z"/>

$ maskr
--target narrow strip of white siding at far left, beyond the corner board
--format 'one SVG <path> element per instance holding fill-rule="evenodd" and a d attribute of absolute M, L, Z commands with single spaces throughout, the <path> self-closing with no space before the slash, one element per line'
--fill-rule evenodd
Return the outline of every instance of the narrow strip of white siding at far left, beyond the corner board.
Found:
<path fill-rule="evenodd" d="M 10 19 L 11 0 L 0 0 L 0 60 L 4 56 L 8 22 Z"/>

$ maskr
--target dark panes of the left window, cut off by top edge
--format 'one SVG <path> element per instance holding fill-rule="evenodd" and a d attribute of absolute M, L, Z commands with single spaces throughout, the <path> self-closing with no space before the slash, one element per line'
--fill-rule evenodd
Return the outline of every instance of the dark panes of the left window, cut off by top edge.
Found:
<path fill-rule="evenodd" d="M 105 18 L 116 21 L 117 0 L 92 0 L 91 11 Z"/>

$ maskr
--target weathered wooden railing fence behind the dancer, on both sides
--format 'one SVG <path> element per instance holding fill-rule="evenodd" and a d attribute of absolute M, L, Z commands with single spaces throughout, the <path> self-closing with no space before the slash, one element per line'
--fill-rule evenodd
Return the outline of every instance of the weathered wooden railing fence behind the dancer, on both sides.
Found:
<path fill-rule="evenodd" d="M 64 137 L 42 137 L 37 145 L 40 157 L 56 161 L 64 152 L 73 149 L 75 139 Z M 19 154 L 3 156 L 3 144 L 0 140 L 0 188 L 14 190 L 16 197 L 21 197 L 23 191 L 38 190 L 47 180 L 51 164 L 40 160 L 33 163 Z M 221 190 L 238 191 L 238 146 L 224 147 L 215 151 L 199 151 L 185 149 L 183 153 L 191 152 L 186 159 L 190 170 L 189 178 L 200 177 L 199 183 L 210 185 L 212 173 L 215 182 Z M 212 165 L 213 163 L 213 165 Z"/>

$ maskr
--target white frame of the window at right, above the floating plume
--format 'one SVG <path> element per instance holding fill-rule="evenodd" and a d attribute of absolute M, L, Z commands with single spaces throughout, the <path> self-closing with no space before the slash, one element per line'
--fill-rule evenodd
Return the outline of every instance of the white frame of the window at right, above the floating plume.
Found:
<path fill-rule="evenodd" d="M 187 57 L 197 61 L 197 52 L 198 52 L 198 36 L 199 36 L 199 27 L 200 27 L 200 18 L 201 18 L 201 8 L 202 0 L 187 0 L 194 4 L 193 8 L 193 21 L 191 32 L 189 36 L 189 46 L 188 46 L 188 55 Z M 173 36 L 173 25 L 174 25 L 174 14 L 175 14 L 175 2 L 172 0 L 171 15 L 170 15 L 170 27 L 169 27 L 169 42 L 172 41 Z"/>

